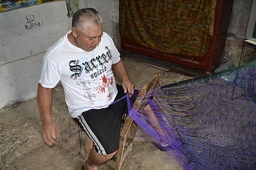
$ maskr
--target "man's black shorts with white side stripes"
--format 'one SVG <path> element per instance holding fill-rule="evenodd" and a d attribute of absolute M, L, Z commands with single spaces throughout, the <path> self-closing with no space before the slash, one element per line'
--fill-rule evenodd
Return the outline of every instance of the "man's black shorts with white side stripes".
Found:
<path fill-rule="evenodd" d="M 115 101 L 125 95 L 121 85 L 116 87 L 118 94 Z M 126 98 L 111 104 L 108 108 L 84 111 L 74 120 L 92 139 L 95 150 L 102 155 L 109 155 L 118 150 L 120 128 L 125 112 L 127 112 Z"/>

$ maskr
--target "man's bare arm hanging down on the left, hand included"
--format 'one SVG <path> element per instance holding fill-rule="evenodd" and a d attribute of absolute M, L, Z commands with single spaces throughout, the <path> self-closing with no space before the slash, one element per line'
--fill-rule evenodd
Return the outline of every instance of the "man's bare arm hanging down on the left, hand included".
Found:
<path fill-rule="evenodd" d="M 58 141 L 56 126 L 51 115 L 51 89 L 42 87 L 40 83 L 38 83 L 37 103 L 42 120 L 42 138 L 46 145 L 54 146 Z"/>

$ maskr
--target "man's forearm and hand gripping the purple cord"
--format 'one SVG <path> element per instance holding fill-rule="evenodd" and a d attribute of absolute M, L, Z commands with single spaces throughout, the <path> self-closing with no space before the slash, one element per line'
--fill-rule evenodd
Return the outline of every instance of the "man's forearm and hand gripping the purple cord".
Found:
<path fill-rule="evenodd" d="M 129 74 L 127 73 L 124 62 L 120 60 L 118 63 L 113 64 L 112 69 L 116 73 L 116 76 L 122 80 L 122 87 L 124 88 L 124 92 L 128 92 L 129 96 L 132 96 L 134 93 L 134 84 L 129 78 Z"/>

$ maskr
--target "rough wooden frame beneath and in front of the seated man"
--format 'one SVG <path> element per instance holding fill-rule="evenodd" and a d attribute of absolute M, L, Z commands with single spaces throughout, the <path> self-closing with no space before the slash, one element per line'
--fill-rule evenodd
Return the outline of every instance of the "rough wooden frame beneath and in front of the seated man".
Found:
<path fill-rule="evenodd" d="M 145 97 L 146 93 L 150 90 L 156 89 L 157 84 L 159 83 L 160 75 L 156 74 L 151 80 L 148 81 L 146 85 L 144 85 L 138 94 L 138 97 L 134 103 L 134 110 L 143 110 L 145 108 L 146 104 L 141 104 L 143 99 L 147 99 L 148 97 Z M 121 169 L 121 166 L 125 160 L 125 157 L 128 155 L 128 153 L 132 150 L 132 145 L 134 142 L 134 138 L 137 131 L 137 125 L 132 120 L 129 115 L 125 118 L 124 125 L 120 132 L 120 144 L 118 151 L 116 153 L 116 167 L 115 169 Z M 93 147 L 93 141 L 86 135 L 85 139 L 85 153 L 86 156 L 89 155 L 90 150 Z"/>

